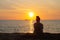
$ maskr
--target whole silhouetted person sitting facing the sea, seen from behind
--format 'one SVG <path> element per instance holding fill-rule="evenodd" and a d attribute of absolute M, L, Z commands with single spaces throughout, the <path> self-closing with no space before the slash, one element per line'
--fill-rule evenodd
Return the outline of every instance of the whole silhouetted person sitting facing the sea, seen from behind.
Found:
<path fill-rule="evenodd" d="M 39 35 L 43 33 L 43 24 L 40 23 L 40 17 L 36 16 L 36 23 L 34 23 L 34 33 Z"/>

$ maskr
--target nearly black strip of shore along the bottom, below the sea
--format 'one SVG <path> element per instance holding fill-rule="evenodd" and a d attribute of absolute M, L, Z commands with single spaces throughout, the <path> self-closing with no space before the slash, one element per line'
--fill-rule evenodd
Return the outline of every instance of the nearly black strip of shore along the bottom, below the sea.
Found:
<path fill-rule="evenodd" d="M 0 40 L 60 40 L 60 34 L 0 33 Z"/>

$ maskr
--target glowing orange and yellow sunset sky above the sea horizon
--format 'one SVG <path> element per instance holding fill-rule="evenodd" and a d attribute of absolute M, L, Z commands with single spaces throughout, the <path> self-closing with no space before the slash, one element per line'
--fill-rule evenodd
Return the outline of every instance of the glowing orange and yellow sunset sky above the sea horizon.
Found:
<path fill-rule="evenodd" d="M 60 20 L 60 0 L 0 0 L 0 20 L 29 19 L 30 11 L 42 20 Z"/>

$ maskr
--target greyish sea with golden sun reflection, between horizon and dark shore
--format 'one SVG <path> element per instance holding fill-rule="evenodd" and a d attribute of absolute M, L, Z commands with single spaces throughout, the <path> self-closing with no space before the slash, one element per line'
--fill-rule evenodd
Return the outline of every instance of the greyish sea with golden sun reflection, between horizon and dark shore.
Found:
<path fill-rule="evenodd" d="M 60 20 L 43 20 L 44 32 L 60 33 Z M 33 33 L 34 21 L 0 20 L 0 33 Z"/>

